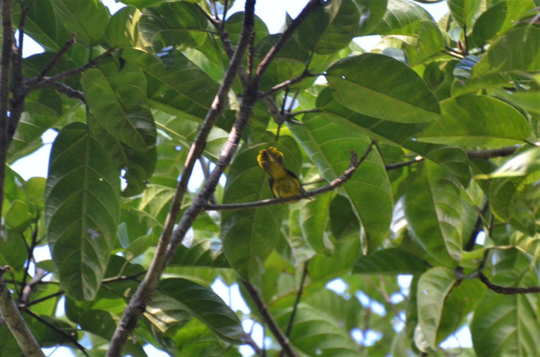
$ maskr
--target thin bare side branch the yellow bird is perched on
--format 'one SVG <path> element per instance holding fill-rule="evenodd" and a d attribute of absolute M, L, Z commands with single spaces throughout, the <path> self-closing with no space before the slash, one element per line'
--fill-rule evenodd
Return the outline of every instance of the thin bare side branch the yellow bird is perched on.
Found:
<path fill-rule="evenodd" d="M 353 150 L 350 150 L 351 159 L 350 159 L 350 165 L 345 172 L 339 177 L 336 177 L 332 182 L 326 184 L 325 186 L 309 190 L 306 193 L 295 195 L 291 197 L 283 197 L 283 198 L 268 198 L 267 200 L 261 200 L 261 201 L 254 201 L 254 202 L 245 202 L 245 203 L 229 203 L 229 204 L 205 204 L 204 209 L 207 211 L 213 210 L 213 211 L 222 211 L 222 210 L 237 210 L 237 209 L 246 209 L 246 208 L 257 208 L 257 207 L 264 207 L 264 206 L 270 206 L 275 204 L 282 204 L 286 202 L 291 201 L 298 201 L 302 200 L 303 198 L 309 198 L 316 195 L 323 194 L 328 191 L 335 190 L 336 188 L 342 186 L 342 184 L 346 183 L 351 176 L 353 176 L 354 171 L 360 166 L 360 164 L 366 160 L 366 157 L 368 156 L 369 152 L 372 150 L 374 145 L 374 142 L 370 143 L 368 149 L 366 150 L 366 153 L 362 156 L 360 160 L 357 160 L 356 153 Z"/>

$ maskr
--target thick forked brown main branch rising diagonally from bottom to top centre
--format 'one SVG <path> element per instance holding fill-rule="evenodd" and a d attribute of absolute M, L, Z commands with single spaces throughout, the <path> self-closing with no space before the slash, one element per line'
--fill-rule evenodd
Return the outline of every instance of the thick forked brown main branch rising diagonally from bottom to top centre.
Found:
<path fill-rule="evenodd" d="M 190 148 L 190 152 L 188 153 L 184 170 L 180 178 L 180 181 L 178 182 L 176 193 L 173 197 L 171 208 L 169 210 L 169 214 L 167 215 L 167 218 L 165 221 L 163 233 L 161 234 L 161 237 L 159 238 L 156 254 L 154 255 L 154 258 L 152 259 L 150 269 L 148 273 L 146 274 L 143 282 L 137 288 L 137 291 L 131 297 L 129 305 L 124 310 L 122 320 L 120 321 L 119 325 L 114 331 L 111 344 L 109 345 L 109 349 L 107 350 L 107 354 L 106 354 L 107 357 L 117 357 L 117 356 L 120 356 L 120 354 L 122 353 L 127 337 L 136 327 L 137 320 L 140 314 L 145 311 L 146 305 L 152 299 L 152 295 L 154 291 L 156 290 L 161 274 L 165 270 L 165 267 L 168 264 L 168 262 L 170 262 L 170 260 L 172 259 L 174 252 L 176 252 L 176 248 L 178 248 L 178 244 L 180 244 L 181 242 L 181 239 L 184 238 L 185 232 L 184 234 L 178 234 L 178 228 L 177 228 L 177 230 L 174 231 L 174 234 L 172 235 L 172 239 L 171 239 L 172 229 L 174 227 L 174 223 L 176 223 L 177 221 L 178 214 L 180 212 L 180 203 L 183 200 L 184 194 L 187 190 L 187 182 L 191 177 L 193 166 L 204 150 L 208 133 L 210 133 L 210 130 L 214 126 L 215 121 L 218 120 L 219 116 L 221 115 L 224 109 L 225 102 L 227 100 L 227 94 L 231 88 L 234 78 L 236 77 L 238 68 L 240 67 L 242 57 L 244 56 L 244 52 L 248 45 L 249 36 L 253 32 L 254 12 L 255 12 L 255 0 L 247 0 L 245 13 L 244 13 L 244 24 L 242 25 L 242 32 L 240 35 L 240 39 L 238 41 L 237 50 L 232 56 L 227 72 L 225 73 L 223 83 L 220 86 L 218 93 L 216 94 L 214 98 L 212 107 L 210 108 L 210 110 L 208 111 L 206 115 L 206 118 L 203 122 L 203 126 L 201 126 L 201 128 L 199 129 L 197 138 L 195 138 L 193 145 Z M 246 93 L 245 97 L 248 97 L 248 95 L 249 94 Z M 255 96 L 252 95 L 252 97 L 255 97 Z M 201 194 L 206 192 L 206 196 L 205 196 L 206 200 L 203 201 L 201 198 L 199 198 L 199 200 L 197 201 L 197 199 L 195 199 L 194 204 L 182 217 L 182 221 L 180 222 L 179 227 L 181 227 L 183 230 L 185 229 L 185 231 L 187 231 L 187 229 L 191 226 L 195 217 L 197 217 L 197 215 L 201 211 L 201 207 L 207 202 L 208 197 L 210 197 L 210 195 L 215 190 L 215 186 L 218 183 L 219 177 L 217 180 L 214 180 L 214 176 L 215 176 L 214 172 L 217 172 L 221 169 L 221 173 L 222 173 L 222 170 L 228 165 L 228 163 L 231 161 L 232 155 L 236 152 L 236 146 L 238 145 L 238 143 L 236 146 L 234 146 L 234 149 L 230 147 L 231 140 L 234 140 L 235 138 L 234 131 L 237 131 L 239 135 L 241 135 L 244 132 L 245 125 L 247 125 L 247 120 L 249 116 L 251 116 L 251 110 L 254 104 L 254 100 L 252 100 L 251 102 L 248 100 L 244 104 L 245 101 L 246 101 L 245 99 L 242 100 L 242 107 L 244 108 L 243 120 L 245 120 L 244 127 L 243 128 L 238 127 L 237 123 L 235 122 L 235 126 L 233 127 L 233 133 L 229 136 L 229 140 L 227 140 L 227 143 L 225 144 L 225 147 L 224 147 L 224 153 L 229 148 L 231 149 L 231 155 L 225 154 L 225 156 L 227 157 L 224 157 L 224 153 L 222 153 L 217 166 L 212 172 L 212 175 L 210 175 L 210 178 L 208 179 L 205 186 L 203 187 L 203 190 L 199 194 L 200 196 Z M 247 116 L 246 116 L 246 109 L 247 109 L 247 114 L 249 114 Z M 240 111 L 239 118 L 241 118 L 241 116 L 242 116 L 242 111 Z M 237 119 L 237 122 L 238 120 L 239 119 Z M 240 136 L 238 136 L 238 141 L 240 141 Z M 221 167 L 220 167 L 220 164 L 221 164 Z M 221 173 L 219 174 L 219 176 L 221 176 Z M 199 203 L 197 204 L 197 202 Z"/>

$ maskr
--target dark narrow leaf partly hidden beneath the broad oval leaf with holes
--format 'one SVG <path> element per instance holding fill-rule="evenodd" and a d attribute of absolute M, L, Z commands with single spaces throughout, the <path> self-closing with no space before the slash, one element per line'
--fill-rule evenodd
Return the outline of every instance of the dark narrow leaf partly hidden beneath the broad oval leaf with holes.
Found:
<path fill-rule="evenodd" d="M 469 159 L 462 148 L 412 140 L 426 127 L 426 124 L 396 123 L 353 112 L 340 104 L 334 98 L 334 93 L 329 88 L 323 90 L 317 99 L 317 107 L 324 112 L 338 115 L 353 122 L 357 128 L 369 136 L 401 146 L 440 164 L 451 171 L 464 186 L 468 185 L 471 171 Z"/>

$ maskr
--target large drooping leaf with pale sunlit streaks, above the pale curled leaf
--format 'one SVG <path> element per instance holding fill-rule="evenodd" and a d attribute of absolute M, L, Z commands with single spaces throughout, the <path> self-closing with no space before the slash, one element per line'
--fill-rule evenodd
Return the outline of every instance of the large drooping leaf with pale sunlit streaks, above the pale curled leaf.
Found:
<path fill-rule="evenodd" d="M 448 171 L 427 162 L 405 195 L 405 215 L 432 264 L 453 266 L 462 247 L 460 184 Z"/>

